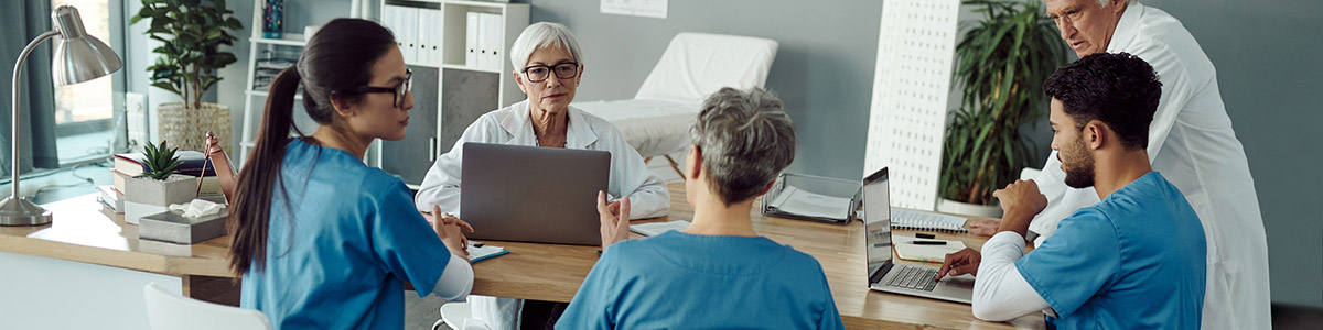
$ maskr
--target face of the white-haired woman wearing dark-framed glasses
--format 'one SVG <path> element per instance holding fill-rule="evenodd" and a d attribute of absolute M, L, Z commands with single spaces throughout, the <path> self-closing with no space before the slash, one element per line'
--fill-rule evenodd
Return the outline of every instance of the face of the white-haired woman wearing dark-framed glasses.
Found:
<path fill-rule="evenodd" d="M 574 73 L 574 78 L 568 79 L 557 77 L 568 75 L 566 73 L 557 74 L 553 69 L 553 73 L 546 74 L 546 81 L 541 82 L 533 82 L 536 79 L 529 79 L 529 75 L 524 73 L 524 69 L 533 66 L 556 67 L 557 65 L 576 62 L 578 62 L 578 59 L 572 57 L 570 51 L 565 50 L 562 46 L 538 48 L 537 50 L 533 50 L 533 54 L 528 57 L 528 63 L 525 63 L 524 67 L 515 69 L 515 82 L 517 82 L 519 88 L 528 95 L 528 107 L 534 111 L 541 110 L 553 114 L 565 111 L 570 102 L 574 100 L 574 90 L 578 88 L 579 79 L 583 78 L 583 66 L 578 67 L 578 71 Z"/>

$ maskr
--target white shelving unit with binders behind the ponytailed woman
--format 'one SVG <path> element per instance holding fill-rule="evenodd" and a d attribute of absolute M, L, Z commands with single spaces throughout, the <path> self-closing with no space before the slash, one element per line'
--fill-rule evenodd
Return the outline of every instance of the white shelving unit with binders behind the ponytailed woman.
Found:
<path fill-rule="evenodd" d="M 288 1 L 287 1 L 288 3 Z M 253 21 L 262 21 L 262 0 L 253 1 Z M 501 57 L 500 69 L 479 69 L 464 65 L 464 48 L 467 33 L 467 13 L 483 12 L 495 13 L 501 17 L 500 45 L 503 51 L 508 51 L 519 33 L 528 26 L 528 4 L 503 4 L 483 1 L 458 0 L 378 0 L 378 13 L 385 12 L 386 5 L 405 7 L 439 7 L 442 11 L 442 61 L 441 63 L 425 63 L 407 61 L 409 69 L 414 71 L 413 98 L 414 108 L 409 111 L 410 124 L 406 127 L 405 139 L 400 141 L 376 141 L 368 149 L 365 157 L 369 166 L 378 166 L 382 170 L 396 174 L 413 189 L 418 189 L 422 178 L 431 168 L 437 157 L 448 152 L 464 128 L 479 116 L 492 110 L 505 107 L 524 99 L 519 84 L 515 83 L 513 65 L 508 55 Z M 286 8 L 288 9 L 288 7 Z M 288 15 L 288 13 L 287 13 Z M 381 22 L 380 17 L 372 17 Z M 254 24 L 255 26 L 261 26 Z M 382 25 L 390 25 L 382 22 Z M 394 32 L 401 37 L 401 32 Z M 243 140 L 239 144 L 239 164 L 243 164 L 247 153 L 253 149 L 257 128 L 261 125 L 265 99 L 269 92 L 258 90 L 255 84 L 255 67 L 259 54 L 267 49 L 277 48 L 303 48 L 307 44 L 302 34 L 284 33 L 283 38 L 263 38 L 261 29 L 254 28 L 249 38 L 249 73 L 247 92 L 243 107 Z M 295 96 L 302 100 L 302 95 Z M 302 102 L 296 102 L 296 108 Z M 307 115 L 295 111 L 295 121 L 299 128 L 315 128 L 315 123 L 300 117 Z"/>

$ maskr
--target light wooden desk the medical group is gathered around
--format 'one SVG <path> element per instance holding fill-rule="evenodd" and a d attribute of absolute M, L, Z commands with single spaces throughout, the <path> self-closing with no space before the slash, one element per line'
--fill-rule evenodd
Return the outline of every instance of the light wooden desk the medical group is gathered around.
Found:
<path fill-rule="evenodd" d="M 684 185 L 669 185 L 669 216 L 640 222 L 692 219 Z M 0 252 L 45 256 L 181 277 L 185 294 L 197 290 L 197 279 L 230 277 L 226 253 L 230 238 L 191 247 L 161 248 L 138 240 L 138 226 L 124 226 L 123 215 L 105 210 L 94 195 L 46 205 L 54 222 L 38 227 L 0 227 Z M 782 244 L 812 255 L 822 263 L 836 308 L 849 329 L 1041 329 L 1043 317 L 1024 315 L 1008 323 L 974 318 L 970 306 L 868 289 L 864 269 L 863 223 L 826 224 L 753 214 L 754 230 Z M 640 238 L 631 234 L 632 238 Z M 960 239 L 979 248 L 983 238 Z M 474 294 L 568 302 L 597 263 L 597 247 L 490 242 L 509 255 L 474 265 Z M 214 276 L 214 277 L 213 277 Z M 213 280 L 214 282 L 214 280 Z M 216 285 L 216 284 L 212 284 Z M 192 294 L 197 296 L 197 294 Z M 235 294 L 237 297 L 237 294 Z M 205 300 L 205 298 L 204 298 Z"/>

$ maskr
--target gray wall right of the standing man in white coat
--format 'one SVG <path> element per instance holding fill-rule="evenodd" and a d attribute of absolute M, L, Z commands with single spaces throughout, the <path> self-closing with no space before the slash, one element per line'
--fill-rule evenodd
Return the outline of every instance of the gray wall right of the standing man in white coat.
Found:
<path fill-rule="evenodd" d="M 1217 66 L 1267 230 L 1273 301 L 1323 308 L 1323 3 L 1146 0 Z"/>

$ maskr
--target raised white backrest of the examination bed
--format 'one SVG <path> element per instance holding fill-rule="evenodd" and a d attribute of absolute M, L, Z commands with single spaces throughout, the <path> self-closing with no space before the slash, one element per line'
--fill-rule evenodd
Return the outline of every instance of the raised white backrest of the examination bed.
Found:
<path fill-rule="evenodd" d="M 773 40 L 684 32 L 671 40 L 634 98 L 693 104 L 721 87 L 762 87 L 775 58 Z"/>

